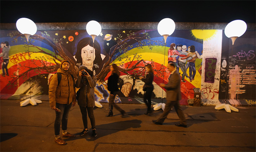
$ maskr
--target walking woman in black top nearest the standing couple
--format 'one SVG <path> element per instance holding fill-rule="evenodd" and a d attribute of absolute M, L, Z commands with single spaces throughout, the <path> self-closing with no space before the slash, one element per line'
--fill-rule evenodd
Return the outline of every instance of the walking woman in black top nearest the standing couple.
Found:
<path fill-rule="evenodd" d="M 119 91 L 118 79 L 119 79 L 120 72 L 118 71 L 118 66 L 116 64 L 112 64 L 110 66 L 110 71 L 112 72 L 112 74 L 111 76 L 109 76 L 109 79 L 107 81 L 107 90 L 110 91 L 109 114 L 107 114 L 106 117 L 113 116 L 113 106 L 122 114 L 122 117 L 125 117 L 126 112 L 114 103 L 116 94 Z"/>

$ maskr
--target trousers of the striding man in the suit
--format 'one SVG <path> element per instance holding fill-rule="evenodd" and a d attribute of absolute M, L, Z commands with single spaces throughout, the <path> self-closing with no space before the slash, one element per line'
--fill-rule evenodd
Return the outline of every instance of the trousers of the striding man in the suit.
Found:
<path fill-rule="evenodd" d="M 169 112 L 171 111 L 171 108 L 174 106 L 174 109 L 176 113 L 178 114 L 178 117 L 180 118 L 180 124 L 187 125 L 185 116 L 183 114 L 183 111 L 180 107 L 179 101 L 166 101 L 166 105 L 163 111 L 163 114 L 157 119 L 159 123 L 164 123 L 164 119 L 167 117 Z"/>

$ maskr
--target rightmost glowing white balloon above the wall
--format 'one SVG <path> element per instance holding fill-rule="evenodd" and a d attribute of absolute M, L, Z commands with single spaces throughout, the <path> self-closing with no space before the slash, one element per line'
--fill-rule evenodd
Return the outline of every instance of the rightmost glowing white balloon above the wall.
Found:
<path fill-rule="evenodd" d="M 227 24 L 224 33 L 228 38 L 240 37 L 246 32 L 246 29 L 246 22 L 242 20 L 234 20 Z"/>

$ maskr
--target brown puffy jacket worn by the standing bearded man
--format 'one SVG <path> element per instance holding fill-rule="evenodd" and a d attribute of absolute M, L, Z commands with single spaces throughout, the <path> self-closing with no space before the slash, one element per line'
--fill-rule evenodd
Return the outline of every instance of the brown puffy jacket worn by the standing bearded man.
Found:
<path fill-rule="evenodd" d="M 61 63 L 63 63 L 63 61 Z M 71 102 L 76 102 L 76 93 L 73 84 L 74 81 L 70 72 L 66 72 L 61 68 L 58 69 L 57 72 L 62 74 L 61 81 L 58 85 L 57 74 L 54 74 L 51 78 L 49 85 L 50 107 L 54 107 L 56 102 L 59 104 L 70 104 Z"/>

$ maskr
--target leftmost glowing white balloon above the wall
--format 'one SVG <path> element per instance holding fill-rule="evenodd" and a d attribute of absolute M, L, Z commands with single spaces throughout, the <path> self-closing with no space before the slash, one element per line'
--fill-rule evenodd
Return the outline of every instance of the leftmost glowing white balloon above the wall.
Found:
<path fill-rule="evenodd" d="M 24 17 L 17 20 L 16 27 L 22 34 L 34 35 L 37 31 L 35 22 Z"/>

